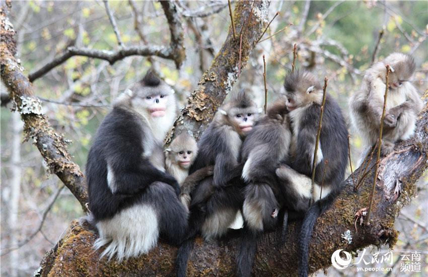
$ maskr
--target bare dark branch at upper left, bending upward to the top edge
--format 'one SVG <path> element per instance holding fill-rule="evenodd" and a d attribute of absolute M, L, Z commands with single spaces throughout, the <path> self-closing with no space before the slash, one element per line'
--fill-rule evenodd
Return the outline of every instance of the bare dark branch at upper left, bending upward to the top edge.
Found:
<path fill-rule="evenodd" d="M 175 65 L 177 66 L 177 68 L 179 68 L 183 63 L 184 59 L 186 58 L 186 52 L 183 45 L 183 26 L 177 13 L 176 6 L 173 2 L 161 1 L 161 5 L 164 9 L 165 16 L 167 18 L 171 32 L 171 41 L 169 47 L 159 45 L 140 45 L 121 47 L 116 51 L 90 49 L 85 47 L 78 48 L 74 46 L 68 47 L 60 55 L 53 58 L 45 65 L 42 65 L 38 70 L 30 73 L 28 75 L 28 79 L 30 80 L 30 82 L 33 82 L 34 80 L 48 73 L 50 70 L 52 70 L 52 68 L 62 64 L 67 59 L 73 56 L 86 56 L 91 58 L 104 59 L 110 62 L 110 64 L 113 64 L 118 60 L 133 55 L 159 56 L 162 58 L 174 60 Z"/>

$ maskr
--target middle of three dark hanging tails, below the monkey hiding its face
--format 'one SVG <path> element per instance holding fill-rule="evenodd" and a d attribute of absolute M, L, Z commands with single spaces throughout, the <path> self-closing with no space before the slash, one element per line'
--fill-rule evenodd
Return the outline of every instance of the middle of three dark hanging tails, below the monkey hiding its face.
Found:
<path fill-rule="evenodd" d="M 251 276 L 251 270 L 253 268 L 254 256 L 257 251 L 257 240 L 259 236 L 259 231 L 253 231 L 248 227 L 244 227 L 236 261 L 238 266 L 237 275 L 239 277 Z"/>

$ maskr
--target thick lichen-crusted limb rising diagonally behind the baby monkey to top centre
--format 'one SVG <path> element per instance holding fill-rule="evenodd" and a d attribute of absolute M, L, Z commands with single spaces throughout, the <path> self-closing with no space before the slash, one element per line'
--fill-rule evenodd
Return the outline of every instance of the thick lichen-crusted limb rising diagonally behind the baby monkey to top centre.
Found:
<path fill-rule="evenodd" d="M 243 28 L 246 28 L 246 31 L 242 33 L 242 66 L 245 66 L 249 54 L 264 30 L 268 6 L 269 3 L 266 1 L 255 2 L 253 15 L 250 17 L 252 2 L 238 1 L 236 3 L 233 16 L 236 32 L 240 33 Z M 208 126 L 214 113 L 239 77 L 239 43 L 238 37 L 233 38 L 233 30 L 230 27 L 225 43 L 209 69 L 202 75 L 197 88 L 188 98 L 188 104 L 175 121 L 174 128 L 167 137 L 167 143 L 173 138 L 176 128 L 184 127 L 192 131 L 193 136 L 197 139 Z"/>

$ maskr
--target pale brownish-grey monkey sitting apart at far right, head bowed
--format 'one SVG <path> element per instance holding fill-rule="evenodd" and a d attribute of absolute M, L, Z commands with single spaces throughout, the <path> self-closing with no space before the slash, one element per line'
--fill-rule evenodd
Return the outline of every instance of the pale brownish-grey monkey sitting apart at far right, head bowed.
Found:
<path fill-rule="evenodd" d="M 413 135 L 416 115 L 423 106 L 417 90 L 410 83 L 416 67 L 412 56 L 392 53 L 383 61 L 373 64 L 364 75 L 361 89 L 349 99 L 350 121 L 361 134 L 365 148 L 372 147 L 379 138 L 387 64 L 390 65 L 391 72 L 383 122 L 383 156 L 392 152 L 397 141 L 408 140 Z"/>

